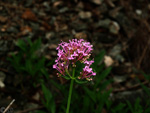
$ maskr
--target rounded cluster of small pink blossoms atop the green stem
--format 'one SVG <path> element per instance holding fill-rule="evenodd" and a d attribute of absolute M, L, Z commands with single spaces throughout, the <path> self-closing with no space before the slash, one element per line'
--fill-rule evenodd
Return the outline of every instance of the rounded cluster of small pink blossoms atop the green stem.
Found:
<path fill-rule="evenodd" d="M 57 69 L 60 74 L 64 75 L 68 72 L 69 66 L 76 67 L 76 62 L 80 61 L 85 64 L 83 71 L 80 72 L 78 79 L 92 80 L 91 76 L 95 76 L 96 73 L 90 68 L 93 60 L 88 61 L 93 45 L 90 42 L 85 42 L 83 39 L 72 39 L 69 43 L 62 42 L 59 44 L 56 50 L 58 50 L 58 58 L 55 60 L 56 64 L 53 68 Z"/>

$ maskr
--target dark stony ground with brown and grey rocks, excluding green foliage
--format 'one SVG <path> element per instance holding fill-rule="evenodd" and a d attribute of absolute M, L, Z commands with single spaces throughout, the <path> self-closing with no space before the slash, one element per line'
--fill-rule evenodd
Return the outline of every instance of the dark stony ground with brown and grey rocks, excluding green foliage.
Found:
<path fill-rule="evenodd" d="M 27 38 L 41 39 L 38 55 L 45 56 L 47 62 L 56 58 L 56 47 L 61 40 L 83 38 L 91 42 L 94 46 L 92 57 L 105 49 L 113 61 L 109 78 L 113 78 L 114 83 L 109 87 L 114 88 L 114 95 L 126 90 L 132 92 L 141 89 L 135 78 L 146 82 L 141 71 L 150 73 L 150 1 L 1 0 L 0 76 L 5 75 L 5 79 L 0 81 L 5 87 L 0 88 L 0 105 L 8 105 L 14 95 L 21 92 L 17 88 L 13 90 L 16 87 L 13 82 L 19 78 L 14 77 L 17 73 L 7 57 L 19 51 L 15 45 L 18 39 L 26 41 Z M 56 71 L 48 68 L 50 78 L 55 79 Z M 67 83 L 66 80 L 58 81 Z M 33 92 L 30 96 L 30 93 L 22 94 L 28 95 L 28 99 L 22 101 L 25 97 L 18 96 L 20 101 L 18 99 L 14 105 L 17 109 L 25 109 L 22 106 L 29 100 L 34 101 L 30 99 Z"/>

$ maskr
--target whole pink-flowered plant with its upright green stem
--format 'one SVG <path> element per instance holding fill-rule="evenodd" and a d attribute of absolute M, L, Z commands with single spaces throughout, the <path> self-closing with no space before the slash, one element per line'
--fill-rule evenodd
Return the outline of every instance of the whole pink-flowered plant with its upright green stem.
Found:
<path fill-rule="evenodd" d="M 56 48 L 56 50 L 58 50 L 58 57 L 55 60 L 56 64 L 53 65 L 53 68 L 58 70 L 58 76 L 71 79 L 66 113 L 69 113 L 74 80 L 80 81 L 82 79 L 91 81 L 92 77 L 96 75 L 90 67 L 92 63 L 94 63 L 94 60 L 89 60 L 93 50 L 92 47 L 93 45 L 91 45 L 90 42 L 86 42 L 84 39 L 72 39 L 69 40 L 69 43 L 61 42 Z M 79 75 L 75 76 L 77 62 L 80 62 L 81 65 L 83 64 L 84 67 Z M 71 71 L 72 75 L 70 74 Z"/>

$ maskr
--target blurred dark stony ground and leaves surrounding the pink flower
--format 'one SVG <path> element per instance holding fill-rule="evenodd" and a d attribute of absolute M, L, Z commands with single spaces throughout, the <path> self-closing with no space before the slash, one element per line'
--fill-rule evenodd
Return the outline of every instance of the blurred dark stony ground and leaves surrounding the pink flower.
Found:
<path fill-rule="evenodd" d="M 0 112 L 64 113 L 70 81 L 52 68 L 62 41 L 93 45 L 97 75 L 70 113 L 150 113 L 149 0 L 0 0 Z"/>

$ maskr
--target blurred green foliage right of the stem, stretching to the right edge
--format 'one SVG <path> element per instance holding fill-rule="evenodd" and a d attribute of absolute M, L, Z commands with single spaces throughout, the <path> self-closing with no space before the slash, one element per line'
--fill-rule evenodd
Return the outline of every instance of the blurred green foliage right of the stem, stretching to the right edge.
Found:
<path fill-rule="evenodd" d="M 81 87 L 82 90 L 73 90 L 70 113 L 101 113 L 102 109 L 106 109 L 108 113 L 149 113 L 150 109 L 148 108 L 150 108 L 150 103 L 147 103 L 146 106 L 142 106 L 139 99 L 137 99 L 133 105 L 128 101 L 126 103 L 119 103 L 115 106 L 114 103 L 109 100 L 112 90 L 106 90 L 106 87 L 113 82 L 113 80 L 108 79 L 111 67 L 105 69 L 102 63 L 104 54 L 105 51 L 103 50 L 96 56 L 95 63 L 92 65 L 97 73 L 94 77 L 94 81 L 92 81 L 93 85 L 89 85 L 88 83 L 84 85 L 81 84 L 78 88 Z M 146 86 L 143 85 L 143 87 Z M 148 89 L 146 90 L 148 92 Z M 68 91 L 65 90 L 64 92 Z M 67 100 L 67 96 L 68 95 L 66 95 L 65 100 Z M 65 100 L 61 106 L 62 112 L 60 113 L 65 112 L 66 106 L 64 105 L 67 103 Z"/>

